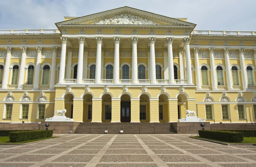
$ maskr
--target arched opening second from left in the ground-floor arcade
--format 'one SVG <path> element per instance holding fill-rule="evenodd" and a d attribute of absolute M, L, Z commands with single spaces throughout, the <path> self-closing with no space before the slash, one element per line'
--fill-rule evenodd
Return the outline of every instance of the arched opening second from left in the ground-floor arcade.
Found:
<path fill-rule="evenodd" d="M 93 115 L 93 96 L 91 94 L 85 94 L 83 97 L 84 101 L 84 114 L 83 122 L 91 122 Z"/>

